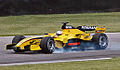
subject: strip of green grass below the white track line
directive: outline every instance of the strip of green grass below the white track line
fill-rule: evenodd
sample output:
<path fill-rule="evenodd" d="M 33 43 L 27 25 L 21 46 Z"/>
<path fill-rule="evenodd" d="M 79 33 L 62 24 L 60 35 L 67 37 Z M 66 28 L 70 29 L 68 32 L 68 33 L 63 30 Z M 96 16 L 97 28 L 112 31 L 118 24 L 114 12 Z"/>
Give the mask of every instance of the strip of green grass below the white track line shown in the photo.
<path fill-rule="evenodd" d="M 98 61 L 4 66 L 0 70 L 120 70 L 120 58 Z"/>

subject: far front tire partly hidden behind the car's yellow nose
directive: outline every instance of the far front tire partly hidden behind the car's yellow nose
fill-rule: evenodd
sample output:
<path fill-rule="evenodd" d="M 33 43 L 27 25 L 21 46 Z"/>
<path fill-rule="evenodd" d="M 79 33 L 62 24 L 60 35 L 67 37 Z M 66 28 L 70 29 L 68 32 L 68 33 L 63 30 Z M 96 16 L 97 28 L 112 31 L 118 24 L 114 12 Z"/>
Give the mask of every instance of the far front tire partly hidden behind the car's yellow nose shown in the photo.
<path fill-rule="evenodd" d="M 13 40 L 12 40 L 12 43 L 15 43 L 15 44 L 17 44 L 17 43 L 19 43 L 22 39 L 24 39 L 25 37 L 23 36 L 23 35 L 17 35 L 17 36 L 15 36 L 14 38 L 13 38 Z M 19 49 L 19 47 L 15 47 L 14 49 L 14 52 L 24 52 L 24 50 L 20 50 Z"/>

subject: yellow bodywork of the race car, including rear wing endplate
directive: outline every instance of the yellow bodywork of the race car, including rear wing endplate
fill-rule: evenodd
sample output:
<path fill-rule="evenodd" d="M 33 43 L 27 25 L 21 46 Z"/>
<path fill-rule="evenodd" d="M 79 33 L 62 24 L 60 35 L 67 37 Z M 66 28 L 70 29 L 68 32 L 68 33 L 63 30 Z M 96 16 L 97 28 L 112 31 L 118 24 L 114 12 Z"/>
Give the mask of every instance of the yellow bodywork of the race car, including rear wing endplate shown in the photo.
<path fill-rule="evenodd" d="M 105 30 L 106 29 L 104 27 L 97 27 L 95 32 L 104 33 Z M 48 35 L 25 38 L 17 43 L 15 46 L 20 47 L 21 50 L 24 50 L 25 46 L 29 46 L 30 51 L 35 51 L 42 50 L 40 48 L 40 42 L 44 37 L 53 37 L 57 48 L 63 48 L 70 39 L 81 39 L 89 41 L 93 38 L 93 35 L 91 35 L 90 33 L 83 32 L 79 29 L 63 29 L 62 32 L 63 34 L 59 36 L 56 35 L 56 33 L 49 33 Z"/>

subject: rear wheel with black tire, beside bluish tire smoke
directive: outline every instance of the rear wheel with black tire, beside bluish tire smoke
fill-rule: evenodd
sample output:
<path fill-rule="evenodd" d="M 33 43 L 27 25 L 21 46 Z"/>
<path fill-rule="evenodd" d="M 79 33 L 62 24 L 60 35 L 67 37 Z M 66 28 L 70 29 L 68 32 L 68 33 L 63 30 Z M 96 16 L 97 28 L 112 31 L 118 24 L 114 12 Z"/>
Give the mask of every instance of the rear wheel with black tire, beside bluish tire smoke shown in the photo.
<path fill-rule="evenodd" d="M 106 34 L 95 34 L 92 40 L 96 50 L 104 50 L 108 46 L 108 37 Z"/>

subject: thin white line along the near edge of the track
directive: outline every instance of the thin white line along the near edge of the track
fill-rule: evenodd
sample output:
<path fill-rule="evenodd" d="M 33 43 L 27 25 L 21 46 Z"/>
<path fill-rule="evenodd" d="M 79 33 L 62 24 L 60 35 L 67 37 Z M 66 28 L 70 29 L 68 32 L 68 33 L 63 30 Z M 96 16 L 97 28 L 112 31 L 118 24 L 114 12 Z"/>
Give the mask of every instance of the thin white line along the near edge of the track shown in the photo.
<path fill-rule="evenodd" d="M 71 60 L 54 60 L 54 61 L 40 61 L 40 62 L 23 62 L 23 63 L 0 64 L 0 66 L 60 63 L 60 62 L 73 62 L 73 61 L 93 61 L 93 60 L 108 60 L 108 59 L 111 59 L 111 58 L 108 57 L 108 58 L 95 58 L 95 59 L 71 59 Z"/>

